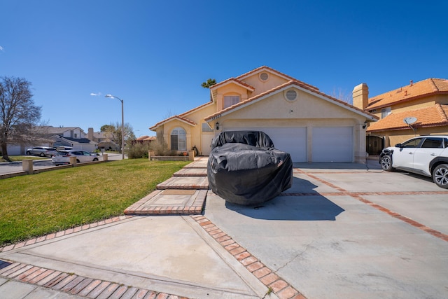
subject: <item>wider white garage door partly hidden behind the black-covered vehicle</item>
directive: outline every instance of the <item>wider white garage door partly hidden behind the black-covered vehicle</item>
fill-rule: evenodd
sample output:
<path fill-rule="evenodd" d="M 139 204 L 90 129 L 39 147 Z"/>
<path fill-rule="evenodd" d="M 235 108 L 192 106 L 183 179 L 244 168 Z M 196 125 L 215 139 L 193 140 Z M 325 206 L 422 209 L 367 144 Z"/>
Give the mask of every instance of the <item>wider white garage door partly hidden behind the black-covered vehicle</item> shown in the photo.
<path fill-rule="evenodd" d="M 269 135 L 275 148 L 291 155 L 293 162 L 307 162 L 306 127 L 228 127 L 225 131 L 262 131 Z"/>

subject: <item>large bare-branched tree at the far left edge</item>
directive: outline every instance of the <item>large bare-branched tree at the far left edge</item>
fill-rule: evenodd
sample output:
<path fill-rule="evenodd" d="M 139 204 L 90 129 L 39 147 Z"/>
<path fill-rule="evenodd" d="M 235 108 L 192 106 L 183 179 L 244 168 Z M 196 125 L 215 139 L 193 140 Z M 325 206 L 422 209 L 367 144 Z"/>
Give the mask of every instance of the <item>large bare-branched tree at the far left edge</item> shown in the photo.
<path fill-rule="evenodd" d="M 41 119 L 41 106 L 36 106 L 31 83 L 25 78 L 1 77 L 0 81 L 0 147 L 3 159 L 8 157 L 8 143 L 30 139 Z"/>

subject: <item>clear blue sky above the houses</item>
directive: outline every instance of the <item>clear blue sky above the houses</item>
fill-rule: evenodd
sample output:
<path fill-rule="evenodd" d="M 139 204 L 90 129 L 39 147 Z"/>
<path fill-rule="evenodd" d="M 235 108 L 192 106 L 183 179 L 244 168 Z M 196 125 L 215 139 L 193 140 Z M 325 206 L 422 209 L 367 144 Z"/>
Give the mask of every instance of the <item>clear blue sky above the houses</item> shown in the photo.
<path fill-rule="evenodd" d="M 1 1 L 0 76 L 26 78 L 48 125 L 121 121 L 137 137 L 266 65 L 349 96 L 448 78 L 448 1 Z M 92 93 L 101 94 L 93 96 Z"/>

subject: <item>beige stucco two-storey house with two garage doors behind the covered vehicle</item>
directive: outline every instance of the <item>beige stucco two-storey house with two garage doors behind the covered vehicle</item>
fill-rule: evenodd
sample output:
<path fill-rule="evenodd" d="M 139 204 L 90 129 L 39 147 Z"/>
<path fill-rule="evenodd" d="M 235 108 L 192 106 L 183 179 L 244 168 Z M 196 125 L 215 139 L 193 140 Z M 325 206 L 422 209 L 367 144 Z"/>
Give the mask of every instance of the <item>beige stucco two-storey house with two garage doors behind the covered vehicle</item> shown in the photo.
<path fill-rule="evenodd" d="M 174 151 L 209 155 L 222 131 L 260 130 L 293 162 L 365 162 L 366 123 L 377 117 L 269 67 L 210 88 L 211 100 L 150 127 Z"/>

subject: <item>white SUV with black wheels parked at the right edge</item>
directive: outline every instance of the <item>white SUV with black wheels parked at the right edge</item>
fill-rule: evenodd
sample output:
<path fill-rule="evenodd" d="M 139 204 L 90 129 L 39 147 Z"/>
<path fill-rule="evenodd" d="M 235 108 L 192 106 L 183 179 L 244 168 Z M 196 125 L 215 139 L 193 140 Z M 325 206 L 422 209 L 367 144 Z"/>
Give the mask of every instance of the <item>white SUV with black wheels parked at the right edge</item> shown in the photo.
<path fill-rule="evenodd" d="M 448 189 L 448 135 L 419 136 L 384 148 L 379 155 L 381 168 L 401 169 L 433 178 Z"/>

